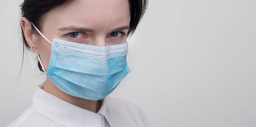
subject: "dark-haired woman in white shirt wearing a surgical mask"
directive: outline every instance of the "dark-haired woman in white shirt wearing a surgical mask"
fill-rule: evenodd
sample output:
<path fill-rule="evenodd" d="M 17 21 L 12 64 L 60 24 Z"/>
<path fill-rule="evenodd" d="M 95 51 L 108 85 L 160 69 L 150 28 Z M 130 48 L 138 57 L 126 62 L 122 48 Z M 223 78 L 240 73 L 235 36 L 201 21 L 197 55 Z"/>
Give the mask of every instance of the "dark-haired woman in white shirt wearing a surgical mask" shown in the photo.
<path fill-rule="evenodd" d="M 107 97 L 130 72 L 127 36 L 146 0 L 24 0 L 24 47 L 46 81 L 8 127 L 149 127 L 144 112 Z"/>

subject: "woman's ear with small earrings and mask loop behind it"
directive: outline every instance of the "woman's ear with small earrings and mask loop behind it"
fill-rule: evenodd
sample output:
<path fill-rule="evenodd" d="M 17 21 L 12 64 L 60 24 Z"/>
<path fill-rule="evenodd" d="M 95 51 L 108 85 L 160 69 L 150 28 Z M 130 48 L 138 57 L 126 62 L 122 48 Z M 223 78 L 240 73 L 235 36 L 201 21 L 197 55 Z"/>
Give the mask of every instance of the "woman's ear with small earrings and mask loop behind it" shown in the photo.
<path fill-rule="evenodd" d="M 27 44 L 32 47 L 36 53 L 38 53 L 38 42 L 37 36 L 32 31 L 31 22 L 26 17 L 21 17 L 20 24 L 22 26 L 22 30 L 27 41 Z"/>

